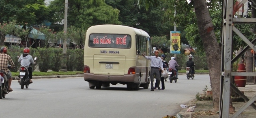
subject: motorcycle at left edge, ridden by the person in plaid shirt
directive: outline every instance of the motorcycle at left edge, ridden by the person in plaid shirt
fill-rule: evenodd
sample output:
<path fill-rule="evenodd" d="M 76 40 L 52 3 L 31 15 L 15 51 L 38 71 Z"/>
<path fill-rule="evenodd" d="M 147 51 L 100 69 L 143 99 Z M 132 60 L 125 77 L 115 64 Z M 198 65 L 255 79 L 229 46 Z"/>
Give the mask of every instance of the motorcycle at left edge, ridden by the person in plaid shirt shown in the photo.
<path fill-rule="evenodd" d="M 11 65 L 8 64 L 8 68 L 11 68 Z M 1 84 L 0 84 L 0 99 L 5 98 L 5 95 L 10 93 L 9 87 L 8 87 L 8 78 L 6 76 L 6 73 L 2 70 L 0 70 L 0 75 L 3 77 L 1 78 Z"/>

